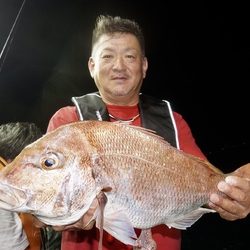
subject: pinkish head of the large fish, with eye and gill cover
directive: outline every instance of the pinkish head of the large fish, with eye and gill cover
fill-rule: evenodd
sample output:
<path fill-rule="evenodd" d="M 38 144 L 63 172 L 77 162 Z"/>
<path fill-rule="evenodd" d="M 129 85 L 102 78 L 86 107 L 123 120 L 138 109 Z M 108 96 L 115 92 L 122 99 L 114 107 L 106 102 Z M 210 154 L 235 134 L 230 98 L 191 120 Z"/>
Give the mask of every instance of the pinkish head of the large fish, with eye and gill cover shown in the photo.
<path fill-rule="evenodd" d="M 0 172 L 0 208 L 47 225 L 77 221 L 96 197 L 88 144 L 74 129 L 48 133 Z"/>

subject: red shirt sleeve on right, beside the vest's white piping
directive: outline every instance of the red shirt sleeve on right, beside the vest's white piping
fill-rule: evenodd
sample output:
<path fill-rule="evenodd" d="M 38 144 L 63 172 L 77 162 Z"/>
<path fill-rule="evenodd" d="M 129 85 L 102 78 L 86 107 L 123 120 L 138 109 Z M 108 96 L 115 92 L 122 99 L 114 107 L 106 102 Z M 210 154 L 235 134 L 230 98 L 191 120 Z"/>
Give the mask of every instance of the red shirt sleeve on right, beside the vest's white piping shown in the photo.
<path fill-rule="evenodd" d="M 186 153 L 192 154 L 202 159 L 206 159 L 206 156 L 202 153 L 201 149 L 196 144 L 191 129 L 187 122 L 180 114 L 176 112 L 174 112 L 174 119 L 178 131 L 180 149 Z"/>

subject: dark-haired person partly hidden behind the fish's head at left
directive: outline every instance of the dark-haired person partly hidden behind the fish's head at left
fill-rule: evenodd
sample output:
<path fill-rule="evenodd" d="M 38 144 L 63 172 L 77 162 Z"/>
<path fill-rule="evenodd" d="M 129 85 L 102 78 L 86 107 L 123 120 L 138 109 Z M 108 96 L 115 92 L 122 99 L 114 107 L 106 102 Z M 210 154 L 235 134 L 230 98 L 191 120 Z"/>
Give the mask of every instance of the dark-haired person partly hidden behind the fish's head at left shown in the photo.
<path fill-rule="evenodd" d="M 28 122 L 12 122 L 0 125 L 0 166 L 3 168 L 21 150 L 42 136 L 41 130 Z M 40 230 L 32 223 L 30 215 L 0 210 L 0 249 L 39 250 Z M 27 238 L 27 236 L 28 238 Z"/>

